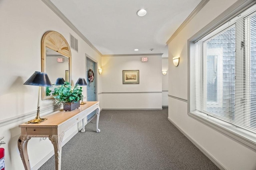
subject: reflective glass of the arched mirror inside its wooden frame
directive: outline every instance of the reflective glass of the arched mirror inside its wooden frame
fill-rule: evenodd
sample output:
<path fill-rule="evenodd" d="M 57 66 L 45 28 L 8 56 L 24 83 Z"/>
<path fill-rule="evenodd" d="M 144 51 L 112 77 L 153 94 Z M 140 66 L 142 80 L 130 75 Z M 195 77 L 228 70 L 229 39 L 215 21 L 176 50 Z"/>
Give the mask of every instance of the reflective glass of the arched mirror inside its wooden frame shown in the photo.
<path fill-rule="evenodd" d="M 46 96 L 54 95 L 54 88 L 61 86 L 62 81 L 69 82 L 69 58 L 46 47 L 46 70 L 52 87 L 46 88 Z"/>

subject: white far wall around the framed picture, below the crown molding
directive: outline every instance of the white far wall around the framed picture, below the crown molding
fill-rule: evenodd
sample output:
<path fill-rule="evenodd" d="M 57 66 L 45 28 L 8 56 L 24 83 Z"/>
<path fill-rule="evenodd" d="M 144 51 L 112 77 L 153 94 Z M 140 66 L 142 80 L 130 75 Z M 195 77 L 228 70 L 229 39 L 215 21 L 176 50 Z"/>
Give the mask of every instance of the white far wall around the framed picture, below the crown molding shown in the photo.
<path fill-rule="evenodd" d="M 140 83 L 122 84 L 122 70 L 140 70 Z M 162 109 L 162 57 L 102 57 L 102 92 L 103 109 Z"/>

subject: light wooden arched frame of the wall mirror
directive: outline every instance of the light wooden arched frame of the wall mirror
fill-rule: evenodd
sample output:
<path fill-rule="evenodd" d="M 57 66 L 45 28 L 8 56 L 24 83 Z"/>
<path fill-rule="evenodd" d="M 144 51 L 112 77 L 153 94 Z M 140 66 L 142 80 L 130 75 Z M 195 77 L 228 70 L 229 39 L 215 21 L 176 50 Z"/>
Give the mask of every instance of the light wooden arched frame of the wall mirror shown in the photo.
<path fill-rule="evenodd" d="M 42 43 L 41 43 L 42 72 L 46 72 L 46 47 L 60 53 L 61 55 L 64 55 L 65 57 L 68 57 L 69 82 L 71 82 L 72 55 L 71 55 L 70 47 L 68 45 L 68 41 L 60 33 L 56 31 L 47 31 L 46 33 L 44 33 L 44 36 L 42 37 Z M 52 98 L 53 98 L 52 95 L 46 96 L 46 88 L 43 87 L 42 100 L 52 99 Z"/>

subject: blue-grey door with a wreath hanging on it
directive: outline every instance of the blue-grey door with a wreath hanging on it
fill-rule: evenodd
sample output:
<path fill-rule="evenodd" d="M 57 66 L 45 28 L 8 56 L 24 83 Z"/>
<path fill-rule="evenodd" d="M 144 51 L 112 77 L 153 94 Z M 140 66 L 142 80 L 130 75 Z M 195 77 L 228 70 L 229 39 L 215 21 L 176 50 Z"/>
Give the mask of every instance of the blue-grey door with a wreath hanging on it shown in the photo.
<path fill-rule="evenodd" d="M 95 62 L 86 57 L 86 74 L 87 74 L 87 101 L 96 101 L 96 72 Z M 89 80 L 90 79 L 90 80 Z M 96 111 L 93 111 L 87 116 L 89 120 Z"/>

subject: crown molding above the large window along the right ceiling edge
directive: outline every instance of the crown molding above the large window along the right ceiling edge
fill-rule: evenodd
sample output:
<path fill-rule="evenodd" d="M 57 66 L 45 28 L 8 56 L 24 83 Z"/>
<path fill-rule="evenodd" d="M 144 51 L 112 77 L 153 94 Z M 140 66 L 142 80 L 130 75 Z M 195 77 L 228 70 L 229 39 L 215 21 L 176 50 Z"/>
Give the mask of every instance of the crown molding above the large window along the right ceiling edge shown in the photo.
<path fill-rule="evenodd" d="M 210 0 L 202 0 L 198 6 L 196 6 L 196 8 L 192 11 L 192 13 L 188 16 L 188 18 L 186 18 L 186 20 L 180 25 L 180 27 L 178 27 L 178 29 L 172 34 L 172 36 L 170 37 L 170 39 L 168 39 L 168 41 L 166 42 L 166 44 L 169 44 L 177 35 L 178 33 L 180 33 L 180 31 L 189 23 L 190 20 L 192 20 L 192 18 L 194 18 L 194 16 L 196 16 L 196 14 L 209 2 Z"/>

